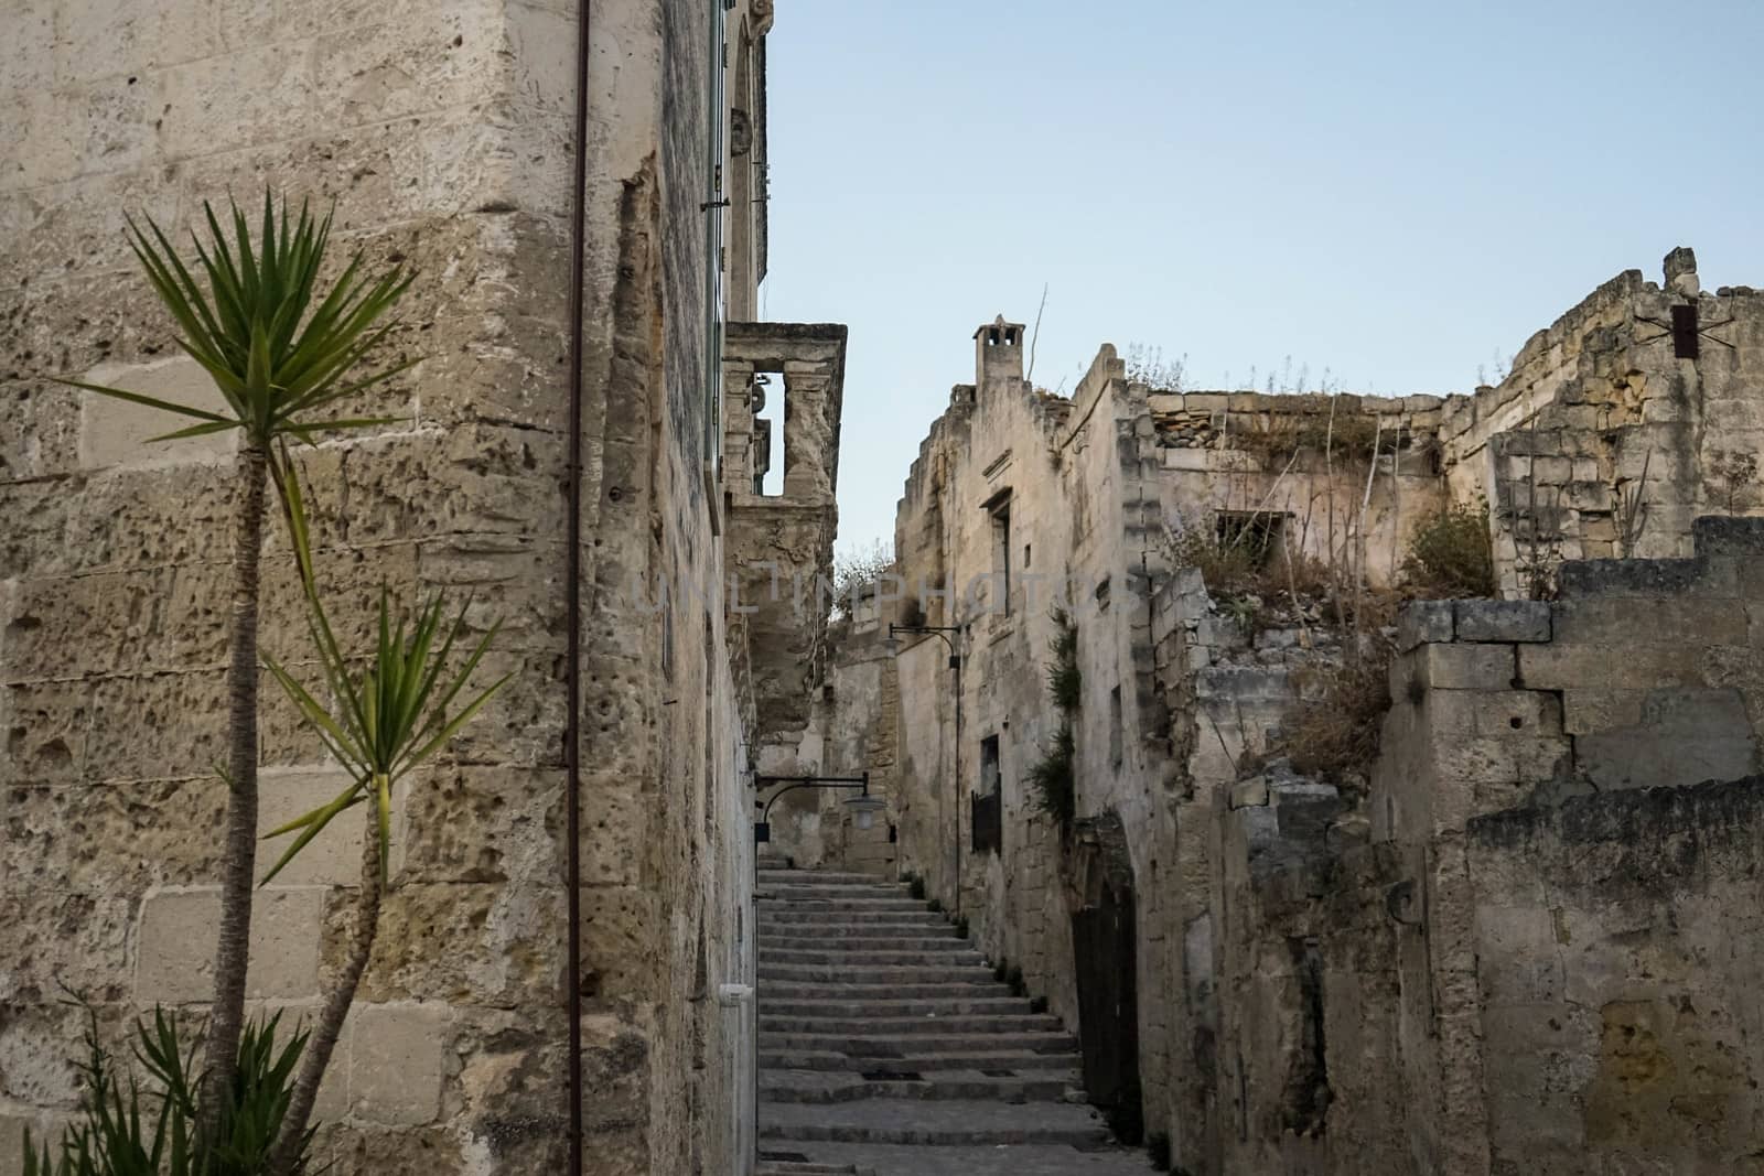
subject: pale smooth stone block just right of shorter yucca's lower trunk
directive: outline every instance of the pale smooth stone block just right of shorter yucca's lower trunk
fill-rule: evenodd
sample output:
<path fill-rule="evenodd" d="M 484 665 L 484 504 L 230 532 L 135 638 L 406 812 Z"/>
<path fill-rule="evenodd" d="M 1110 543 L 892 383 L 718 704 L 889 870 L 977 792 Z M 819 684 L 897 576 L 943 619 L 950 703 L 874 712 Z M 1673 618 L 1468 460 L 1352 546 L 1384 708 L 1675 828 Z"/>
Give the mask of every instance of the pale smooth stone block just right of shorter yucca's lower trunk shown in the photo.
<path fill-rule="evenodd" d="M 356 1120 L 422 1127 L 441 1113 L 446 1005 L 360 1005 L 349 1044 L 349 1109 Z"/>

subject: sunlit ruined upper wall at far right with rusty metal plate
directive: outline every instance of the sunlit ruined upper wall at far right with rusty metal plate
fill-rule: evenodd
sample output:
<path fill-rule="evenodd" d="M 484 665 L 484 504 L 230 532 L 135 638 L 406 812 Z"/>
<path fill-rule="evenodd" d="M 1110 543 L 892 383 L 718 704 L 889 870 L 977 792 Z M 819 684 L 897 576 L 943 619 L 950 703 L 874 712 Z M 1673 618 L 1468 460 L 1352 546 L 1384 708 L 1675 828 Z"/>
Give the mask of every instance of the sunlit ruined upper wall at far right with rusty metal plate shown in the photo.
<path fill-rule="evenodd" d="M 1688 555 L 1693 518 L 1757 513 L 1760 340 L 1764 298 L 1702 291 L 1678 249 L 1663 287 L 1618 275 L 1499 386 L 1450 397 L 1443 467 L 1454 497 L 1492 508 L 1503 592 L 1549 591 L 1563 561 Z"/>

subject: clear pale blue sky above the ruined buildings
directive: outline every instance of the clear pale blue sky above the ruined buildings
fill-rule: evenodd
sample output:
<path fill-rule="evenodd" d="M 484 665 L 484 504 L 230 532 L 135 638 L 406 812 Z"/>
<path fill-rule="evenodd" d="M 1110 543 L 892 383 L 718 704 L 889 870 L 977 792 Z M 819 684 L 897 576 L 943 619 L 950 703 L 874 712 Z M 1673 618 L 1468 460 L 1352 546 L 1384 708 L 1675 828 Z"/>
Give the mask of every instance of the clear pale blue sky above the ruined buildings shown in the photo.
<path fill-rule="evenodd" d="M 1674 245 L 1764 286 L 1759 0 L 783 0 L 767 58 L 766 317 L 850 324 L 841 548 L 1043 286 L 1050 388 L 1138 342 L 1387 395 Z"/>

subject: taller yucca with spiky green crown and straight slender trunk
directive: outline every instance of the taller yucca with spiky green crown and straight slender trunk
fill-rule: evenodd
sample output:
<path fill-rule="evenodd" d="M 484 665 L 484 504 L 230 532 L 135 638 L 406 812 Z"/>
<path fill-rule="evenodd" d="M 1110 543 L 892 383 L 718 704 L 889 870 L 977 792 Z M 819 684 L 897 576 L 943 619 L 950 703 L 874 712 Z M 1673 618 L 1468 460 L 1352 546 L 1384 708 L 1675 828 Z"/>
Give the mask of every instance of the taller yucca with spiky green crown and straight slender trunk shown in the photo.
<path fill-rule="evenodd" d="M 233 548 L 233 607 L 228 668 L 228 813 L 222 848 L 220 927 L 215 945 L 215 989 L 208 1024 L 206 1074 L 228 1090 L 238 1063 L 245 1016 L 245 968 L 250 942 L 252 875 L 258 834 L 258 555 L 263 548 L 265 469 L 284 439 L 312 443 L 321 430 L 358 428 L 386 418 L 325 420 L 339 400 L 381 384 L 411 367 L 406 360 L 367 377 L 355 368 L 385 340 L 393 323 L 386 312 L 411 284 L 393 270 L 363 273 L 362 254 L 319 296 L 319 273 L 330 247 L 332 217 L 316 219 L 305 205 L 289 224 L 288 203 L 277 213 L 263 196 L 256 243 L 245 213 L 231 208 L 231 234 L 203 205 L 208 242 L 192 233 L 196 272 L 146 217 L 129 220 L 134 256 L 182 335 L 178 346 L 213 379 L 224 413 L 146 397 L 123 388 L 62 381 L 106 397 L 145 404 L 189 420 L 153 441 L 199 437 L 238 428 L 238 508 Z M 205 1105 L 219 1107 L 219 1097 Z"/>

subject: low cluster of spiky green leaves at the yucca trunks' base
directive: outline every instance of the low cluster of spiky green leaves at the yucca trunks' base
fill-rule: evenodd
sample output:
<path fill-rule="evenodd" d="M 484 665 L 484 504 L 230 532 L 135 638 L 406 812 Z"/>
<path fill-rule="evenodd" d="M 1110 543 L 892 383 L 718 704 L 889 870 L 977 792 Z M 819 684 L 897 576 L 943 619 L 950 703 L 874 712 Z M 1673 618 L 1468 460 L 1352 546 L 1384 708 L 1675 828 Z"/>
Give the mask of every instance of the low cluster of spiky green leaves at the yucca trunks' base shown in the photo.
<path fill-rule="evenodd" d="M 58 1153 L 25 1134 L 25 1176 L 261 1176 L 307 1044 L 298 1031 L 279 1044 L 279 1024 L 280 1014 L 245 1024 L 229 1097 L 206 1128 L 198 1044 L 183 1044 L 178 1023 L 155 1009 L 152 1026 L 134 1026 L 134 1060 L 152 1079 L 143 1098 L 139 1079 L 118 1074 L 86 1005 L 79 1118 L 62 1132 Z M 307 1171 L 310 1144 L 312 1132 L 300 1132 L 289 1172 Z"/>

